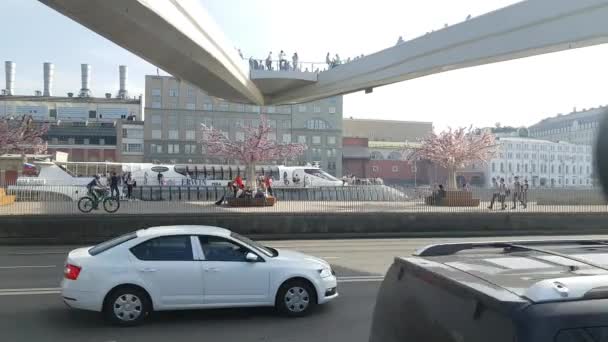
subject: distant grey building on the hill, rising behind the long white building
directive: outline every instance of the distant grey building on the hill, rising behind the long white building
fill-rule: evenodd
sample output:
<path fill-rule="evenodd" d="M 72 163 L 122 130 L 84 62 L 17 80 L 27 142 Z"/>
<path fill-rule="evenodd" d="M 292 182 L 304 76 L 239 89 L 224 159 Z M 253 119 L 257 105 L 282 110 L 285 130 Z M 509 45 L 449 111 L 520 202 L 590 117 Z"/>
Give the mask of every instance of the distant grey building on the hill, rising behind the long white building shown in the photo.
<path fill-rule="evenodd" d="M 570 114 L 559 114 L 530 126 L 530 136 L 549 141 L 567 141 L 573 144 L 595 145 L 601 120 L 608 108 L 602 106 Z"/>

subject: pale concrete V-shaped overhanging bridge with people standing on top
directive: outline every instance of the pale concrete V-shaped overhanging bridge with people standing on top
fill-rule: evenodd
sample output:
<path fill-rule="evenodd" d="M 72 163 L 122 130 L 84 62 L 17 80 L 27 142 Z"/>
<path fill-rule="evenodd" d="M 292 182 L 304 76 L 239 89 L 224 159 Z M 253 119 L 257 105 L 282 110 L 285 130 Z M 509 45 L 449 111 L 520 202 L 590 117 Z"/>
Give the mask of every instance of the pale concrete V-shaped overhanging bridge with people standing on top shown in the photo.
<path fill-rule="evenodd" d="M 608 0 L 526 1 L 315 73 L 313 78 L 301 72 L 249 73 L 193 1 L 40 1 L 213 96 L 256 104 L 313 101 L 608 42 Z"/>

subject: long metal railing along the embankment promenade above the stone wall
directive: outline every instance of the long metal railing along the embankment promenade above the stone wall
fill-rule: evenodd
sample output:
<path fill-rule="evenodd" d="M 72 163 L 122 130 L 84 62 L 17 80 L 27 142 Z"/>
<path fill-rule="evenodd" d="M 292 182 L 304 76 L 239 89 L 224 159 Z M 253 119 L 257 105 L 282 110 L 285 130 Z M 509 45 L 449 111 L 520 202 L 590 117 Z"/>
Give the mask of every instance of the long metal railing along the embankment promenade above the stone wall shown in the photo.
<path fill-rule="evenodd" d="M 438 194 L 428 188 L 384 185 L 273 188 L 276 204 L 266 207 L 231 207 L 222 197 L 233 197 L 224 186 L 137 185 L 120 186 L 121 214 L 158 213 L 607 213 L 600 189 L 532 188 L 525 194 L 494 195 L 490 189 Z M 0 215 L 79 214 L 77 201 L 85 186 L 0 186 Z M 494 199 L 493 199 L 494 198 Z M 493 203 L 492 203 L 493 202 Z M 504 206 L 503 206 L 504 203 Z M 492 209 L 488 207 L 493 204 Z M 503 209 L 504 207 L 504 209 Z M 102 210 L 96 213 L 104 213 Z M 105 214 L 105 213 L 104 213 Z"/>

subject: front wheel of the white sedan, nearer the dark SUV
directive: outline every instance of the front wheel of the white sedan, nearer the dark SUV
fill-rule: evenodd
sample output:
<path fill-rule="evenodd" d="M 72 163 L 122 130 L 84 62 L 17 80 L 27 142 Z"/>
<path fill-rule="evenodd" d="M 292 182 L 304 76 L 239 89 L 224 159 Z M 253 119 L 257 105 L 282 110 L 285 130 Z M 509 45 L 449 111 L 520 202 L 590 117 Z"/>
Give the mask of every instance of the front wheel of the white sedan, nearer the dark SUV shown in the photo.
<path fill-rule="evenodd" d="M 316 304 L 317 295 L 314 287 L 303 280 L 288 281 L 279 288 L 277 293 L 276 307 L 286 316 L 304 316 Z"/>

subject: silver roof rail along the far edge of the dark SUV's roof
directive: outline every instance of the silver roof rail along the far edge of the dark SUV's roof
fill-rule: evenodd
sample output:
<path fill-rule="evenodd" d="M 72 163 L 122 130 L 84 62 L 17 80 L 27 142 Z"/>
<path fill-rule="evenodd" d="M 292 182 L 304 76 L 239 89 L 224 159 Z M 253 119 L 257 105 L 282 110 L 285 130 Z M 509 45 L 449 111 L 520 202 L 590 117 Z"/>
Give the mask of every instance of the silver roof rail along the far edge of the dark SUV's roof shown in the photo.
<path fill-rule="evenodd" d="M 456 243 L 442 243 L 436 245 L 429 245 L 422 247 L 417 250 L 414 255 L 420 257 L 427 256 L 442 256 L 456 254 L 460 251 L 474 248 L 519 248 L 536 250 L 542 252 L 548 252 L 547 250 L 540 248 L 533 248 L 533 246 L 545 246 L 545 245 L 590 245 L 590 246 L 608 246 L 607 240 L 598 239 L 558 239 L 558 240 L 513 240 L 513 241 L 481 241 L 481 242 L 456 242 Z M 557 252 L 551 252 L 557 253 Z M 569 257 L 570 258 L 570 257 Z M 587 262 L 585 262 L 587 263 Z"/>

